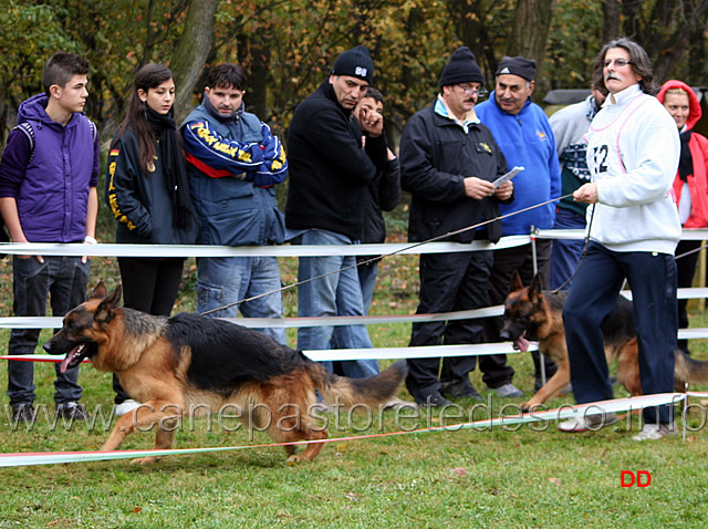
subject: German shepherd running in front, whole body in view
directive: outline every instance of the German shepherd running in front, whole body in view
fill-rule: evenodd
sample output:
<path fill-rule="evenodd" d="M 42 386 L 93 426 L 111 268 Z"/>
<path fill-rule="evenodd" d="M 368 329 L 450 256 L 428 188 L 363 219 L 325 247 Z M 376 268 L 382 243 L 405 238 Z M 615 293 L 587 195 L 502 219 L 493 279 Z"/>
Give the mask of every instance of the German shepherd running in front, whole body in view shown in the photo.
<path fill-rule="evenodd" d="M 243 411 L 241 421 L 275 443 L 325 439 L 327 431 L 310 413 L 315 390 L 330 404 L 376 408 L 396 396 L 406 376 L 400 361 L 371 378 L 340 377 L 258 331 L 196 314 L 149 315 L 118 307 L 121 294 L 121 286 L 108 295 L 100 282 L 44 344 L 50 354 L 66 354 L 62 370 L 90 357 L 143 403 L 117 421 L 102 450 L 119 448 L 128 434 L 154 424 L 155 449 L 169 448 L 183 414 L 216 413 L 225 405 Z M 295 455 L 295 446 L 285 446 L 289 461 L 311 460 L 321 449 L 322 443 L 309 443 Z"/>

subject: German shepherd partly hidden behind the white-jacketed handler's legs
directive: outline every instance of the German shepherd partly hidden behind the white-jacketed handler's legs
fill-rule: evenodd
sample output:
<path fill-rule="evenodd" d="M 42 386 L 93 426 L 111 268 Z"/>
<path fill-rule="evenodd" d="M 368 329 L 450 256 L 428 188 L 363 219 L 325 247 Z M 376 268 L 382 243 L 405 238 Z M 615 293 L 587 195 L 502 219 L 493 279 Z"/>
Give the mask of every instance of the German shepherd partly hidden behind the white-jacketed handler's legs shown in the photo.
<path fill-rule="evenodd" d="M 518 273 L 512 278 L 511 292 L 504 302 L 504 325 L 500 332 L 501 339 L 512 341 L 514 348 L 521 351 L 528 350 L 530 340 L 538 341 L 539 351 L 558 365 L 558 372 L 535 395 L 521 405 L 524 411 L 543 404 L 571 381 L 563 326 L 563 304 L 566 297 L 566 291 L 543 292 L 541 278 L 538 274 L 529 287 L 522 284 Z M 617 381 L 633 396 L 642 395 L 632 301 L 624 295 L 617 298 L 614 311 L 603 324 L 603 333 L 607 362 L 617 361 Z M 679 349 L 676 349 L 674 354 L 676 391 L 683 392 L 687 382 L 708 382 L 708 362 L 693 360 Z"/>

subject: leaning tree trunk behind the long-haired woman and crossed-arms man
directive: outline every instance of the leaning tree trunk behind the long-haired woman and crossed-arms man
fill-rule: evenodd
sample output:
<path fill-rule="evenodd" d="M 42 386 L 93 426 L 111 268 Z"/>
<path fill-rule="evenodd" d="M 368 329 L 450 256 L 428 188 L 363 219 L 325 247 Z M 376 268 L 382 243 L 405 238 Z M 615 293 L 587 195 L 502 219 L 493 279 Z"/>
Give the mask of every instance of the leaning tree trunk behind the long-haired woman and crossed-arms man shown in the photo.
<path fill-rule="evenodd" d="M 191 107 L 191 93 L 206 63 L 214 42 L 214 24 L 219 0 L 191 0 L 170 69 L 175 74 L 177 97 L 175 116 L 177 123 Z"/>

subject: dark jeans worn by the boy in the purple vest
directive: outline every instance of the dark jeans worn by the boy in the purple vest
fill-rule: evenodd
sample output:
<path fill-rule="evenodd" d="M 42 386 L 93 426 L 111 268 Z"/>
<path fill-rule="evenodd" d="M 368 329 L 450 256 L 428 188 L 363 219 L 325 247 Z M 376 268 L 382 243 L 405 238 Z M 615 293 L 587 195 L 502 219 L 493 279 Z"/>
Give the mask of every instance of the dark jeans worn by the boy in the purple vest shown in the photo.
<path fill-rule="evenodd" d="M 12 284 L 14 291 L 13 309 L 17 317 L 46 315 L 46 298 L 50 299 L 52 315 L 63 317 L 86 299 L 86 283 L 91 261 L 81 262 L 81 257 L 48 257 L 39 262 L 34 256 L 12 257 Z M 34 354 L 40 329 L 13 329 L 10 333 L 8 354 Z M 54 364 L 54 402 L 63 404 L 81 398 L 79 366 L 60 371 Z M 34 402 L 33 362 L 8 361 L 8 396 L 10 405 Z"/>

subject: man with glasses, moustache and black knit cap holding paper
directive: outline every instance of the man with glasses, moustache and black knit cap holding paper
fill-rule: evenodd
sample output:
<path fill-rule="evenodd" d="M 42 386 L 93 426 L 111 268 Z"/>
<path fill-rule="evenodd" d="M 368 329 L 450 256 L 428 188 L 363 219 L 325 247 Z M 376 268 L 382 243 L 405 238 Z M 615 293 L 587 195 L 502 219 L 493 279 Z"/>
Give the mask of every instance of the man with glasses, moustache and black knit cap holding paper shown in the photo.
<path fill-rule="evenodd" d="M 400 139 L 402 187 L 410 191 L 408 240 L 423 241 L 499 216 L 499 203 L 510 203 L 513 184 L 494 187 L 507 172 L 507 162 L 491 132 L 475 113 L 485 79 L 475 54 L 459 48 L 442 70 L 440 93 L 433 105 L 414 115 Z M 448 240 L 496 242 L 499 220 Z M 487 281 L 493 256 L 490 250 L 420 256 L 418 314 L 487 307 Z M 479 343 L 482 320 L 414 323 L 410 345 Z M 480 367 L 483 369 L 483 356 Z M 408 360 L 406 385 L 425 406 L 449 404 L 445 398 L 479 398 L 469 381 L 476 356 Z"/>

